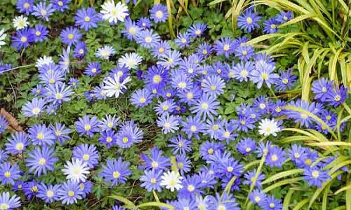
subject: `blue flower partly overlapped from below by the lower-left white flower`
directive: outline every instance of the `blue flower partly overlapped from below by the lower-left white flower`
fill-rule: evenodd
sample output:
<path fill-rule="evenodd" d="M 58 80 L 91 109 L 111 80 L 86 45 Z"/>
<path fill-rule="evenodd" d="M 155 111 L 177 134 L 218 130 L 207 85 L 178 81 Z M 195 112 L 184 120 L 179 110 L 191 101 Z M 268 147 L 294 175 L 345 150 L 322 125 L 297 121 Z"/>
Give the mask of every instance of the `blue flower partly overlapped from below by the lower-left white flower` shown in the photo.
<path fill-rule="evenodd" d="M 73 158 L 83 160 L 91 169 L 99 163 L 99 153 L 93 144 L 79 144 L 79 146 L 75 146 L 73 149 Z"/>

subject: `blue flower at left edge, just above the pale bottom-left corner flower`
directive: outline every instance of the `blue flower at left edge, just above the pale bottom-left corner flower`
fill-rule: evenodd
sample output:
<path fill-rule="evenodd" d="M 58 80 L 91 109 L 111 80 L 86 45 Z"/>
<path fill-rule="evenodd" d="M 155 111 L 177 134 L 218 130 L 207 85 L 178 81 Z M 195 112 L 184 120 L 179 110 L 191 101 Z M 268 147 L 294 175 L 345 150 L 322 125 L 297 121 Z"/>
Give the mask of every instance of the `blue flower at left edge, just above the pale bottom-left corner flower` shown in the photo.
<path fill-rule="evenodd" d="M 20 179 L 20 167 L 17 164 L 11 165 L 10 162 L 4 162 L 0 165 L 0 181 L 2 185 L 6 183 L 15 184 L 15 181 Z"/>

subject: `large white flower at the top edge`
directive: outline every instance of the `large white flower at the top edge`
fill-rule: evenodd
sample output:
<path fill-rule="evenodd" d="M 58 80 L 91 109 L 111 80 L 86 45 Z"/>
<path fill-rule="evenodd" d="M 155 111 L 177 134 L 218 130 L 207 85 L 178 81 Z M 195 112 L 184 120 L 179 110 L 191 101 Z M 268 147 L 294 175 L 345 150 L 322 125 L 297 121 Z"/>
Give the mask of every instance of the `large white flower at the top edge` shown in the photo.
<path fill-rule="evenodd" d="M 124 22 L 128 14 L 128 7 L 125 3 L 118 2 L 114 4 L 114 0 L 106 1 L 102 4 L 102 19 L 109 22 L 117 23 L 118 21 Z"/>

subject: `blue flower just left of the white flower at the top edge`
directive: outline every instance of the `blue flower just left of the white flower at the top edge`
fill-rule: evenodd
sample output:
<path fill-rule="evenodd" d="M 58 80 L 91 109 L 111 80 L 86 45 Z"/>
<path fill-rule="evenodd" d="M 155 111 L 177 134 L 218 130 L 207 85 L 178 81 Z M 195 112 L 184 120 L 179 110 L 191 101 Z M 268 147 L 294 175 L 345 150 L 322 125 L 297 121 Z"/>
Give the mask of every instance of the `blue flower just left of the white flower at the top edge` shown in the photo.
<path fill-rule="evenodd" d="M 88 31 L 88 29 L 98 27 L 100 15 L 95 12 L 95 8 L 82 8 L 80 10 L 77 10 L 77 14 L 74 16 L 74 20 L 74 25 L 79 26 L 85 31 Z"/>

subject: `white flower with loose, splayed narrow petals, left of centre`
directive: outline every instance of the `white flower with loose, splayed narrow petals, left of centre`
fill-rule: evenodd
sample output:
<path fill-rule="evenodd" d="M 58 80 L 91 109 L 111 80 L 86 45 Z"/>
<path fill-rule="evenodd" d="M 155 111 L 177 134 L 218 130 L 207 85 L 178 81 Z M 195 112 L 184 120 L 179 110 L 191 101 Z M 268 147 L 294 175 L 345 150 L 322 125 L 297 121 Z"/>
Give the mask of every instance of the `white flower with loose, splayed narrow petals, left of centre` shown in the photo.
<path fill-rule="evenodd" d="M 121 82 L 119 75 L 117 73 L 114 73 L 114 78 L 109 76 L 104 80 L 104 87 L 102 87 L 102 89 L 104 90 L 107 97 L 114 96 L 118 98 L 119 94 L 123 93 L 123 90 L 127 89 L 126 83 L 129 81 L 131 81 L 131 78 L 128 76 Z"/>

